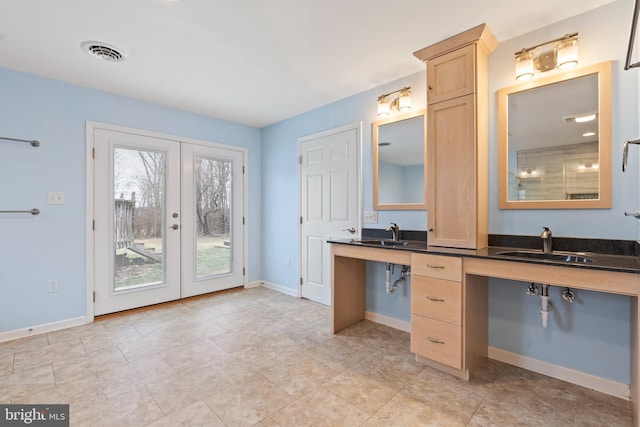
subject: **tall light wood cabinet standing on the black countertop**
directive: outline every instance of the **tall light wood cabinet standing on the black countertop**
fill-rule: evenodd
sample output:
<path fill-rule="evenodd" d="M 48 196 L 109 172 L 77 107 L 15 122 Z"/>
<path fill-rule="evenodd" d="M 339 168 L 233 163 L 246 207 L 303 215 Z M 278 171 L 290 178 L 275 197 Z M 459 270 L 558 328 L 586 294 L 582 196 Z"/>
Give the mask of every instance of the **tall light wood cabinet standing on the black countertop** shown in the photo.
<path fill-rule="evenodd" d="M 482 24 L 414 53 L 427 66 L 429 246 L 487 246 L 487 63 L 496 46 Z"/>

